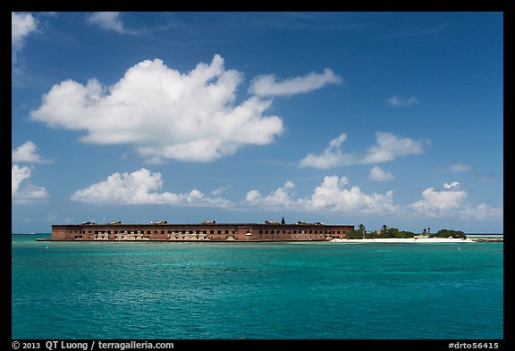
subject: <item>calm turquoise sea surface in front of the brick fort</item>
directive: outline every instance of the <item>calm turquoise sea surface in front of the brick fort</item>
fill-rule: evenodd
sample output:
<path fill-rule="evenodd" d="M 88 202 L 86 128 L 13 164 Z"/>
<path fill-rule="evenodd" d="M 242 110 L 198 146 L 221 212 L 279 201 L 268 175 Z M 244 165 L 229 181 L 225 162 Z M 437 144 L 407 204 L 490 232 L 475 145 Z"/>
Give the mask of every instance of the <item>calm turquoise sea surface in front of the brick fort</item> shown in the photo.
<path fill-rule="evenodd" d="M 503 338 L 502 243 L 36 238 L 12 238 L 13 338 Z"/>

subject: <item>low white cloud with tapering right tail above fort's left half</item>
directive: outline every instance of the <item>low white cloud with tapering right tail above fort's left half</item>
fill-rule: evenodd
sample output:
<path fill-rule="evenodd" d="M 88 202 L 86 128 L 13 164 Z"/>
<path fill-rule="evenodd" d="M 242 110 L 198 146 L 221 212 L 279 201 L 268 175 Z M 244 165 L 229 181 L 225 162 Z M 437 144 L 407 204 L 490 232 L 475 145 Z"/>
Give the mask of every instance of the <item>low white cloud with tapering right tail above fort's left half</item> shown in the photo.
<path fill-rule="evenodd" d="M 70 197 L 96 205 L 186 205 L 186 206 L 230 206 L 231 202 L 217 196 L 206 196 L 198 189 L 187 193 L 159 193 L 163 188 L 161 173 L 150 172 L 145 168 L 131 173 L 115 172 L 106 180 L 92 184 L 88 188 L 75 191 Z"/>

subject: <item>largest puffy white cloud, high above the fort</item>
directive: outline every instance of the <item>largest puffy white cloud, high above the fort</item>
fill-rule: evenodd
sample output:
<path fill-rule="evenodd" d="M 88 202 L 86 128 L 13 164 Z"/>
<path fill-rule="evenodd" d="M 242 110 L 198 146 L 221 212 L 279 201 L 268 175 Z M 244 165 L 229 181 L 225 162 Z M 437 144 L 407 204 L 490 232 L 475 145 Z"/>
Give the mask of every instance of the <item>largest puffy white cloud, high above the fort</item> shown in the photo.
<path fill-rule="evenodd" d="M 241 146 L 270 144 L 283 132 L 281 118 L 265 115 L 271 101 L 250 96 L 235 103 L 241 80 L 218 54 L 188 73 L 146 60 L 108 88 L 97 79 L 56 84 L 31 118 L 85 130 L 85 143 L 132 146 L 148 163 L 210 162 Z"/>

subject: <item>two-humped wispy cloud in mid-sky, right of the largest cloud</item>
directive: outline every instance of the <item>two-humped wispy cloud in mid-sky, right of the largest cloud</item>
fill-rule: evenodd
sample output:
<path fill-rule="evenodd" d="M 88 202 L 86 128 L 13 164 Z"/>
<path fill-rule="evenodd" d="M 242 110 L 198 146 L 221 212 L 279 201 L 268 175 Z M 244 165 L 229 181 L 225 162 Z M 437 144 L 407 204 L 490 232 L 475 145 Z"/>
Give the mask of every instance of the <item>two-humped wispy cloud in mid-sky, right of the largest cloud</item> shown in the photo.
<path fill-rule="evenodd" d="M 384 163 L 405 155 L 418 155 L 426 144 L 411 138 L 400 138 L 393 133 L 377 131 L 376 145 L 370 146 L 363 155 L 343 153 L 342 144 L 347 135 L 342 133 L 329 142 L 329 146 L 320 155 L 308 154 L 300 160 L 300 167 L 326 169 L 347 166 L 350 164 Z"/>

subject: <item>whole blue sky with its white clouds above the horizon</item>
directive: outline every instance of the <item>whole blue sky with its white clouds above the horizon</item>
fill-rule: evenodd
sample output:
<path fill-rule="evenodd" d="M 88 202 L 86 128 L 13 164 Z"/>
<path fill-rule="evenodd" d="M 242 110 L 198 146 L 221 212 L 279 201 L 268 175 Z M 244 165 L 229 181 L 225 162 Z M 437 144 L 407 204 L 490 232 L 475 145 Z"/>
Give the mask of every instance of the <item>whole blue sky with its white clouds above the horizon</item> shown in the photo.
<path fill-rule="evenodd" d="M 502 232 L 502 13 L 12 13 L 12 230 Z"/>

